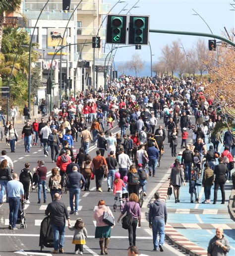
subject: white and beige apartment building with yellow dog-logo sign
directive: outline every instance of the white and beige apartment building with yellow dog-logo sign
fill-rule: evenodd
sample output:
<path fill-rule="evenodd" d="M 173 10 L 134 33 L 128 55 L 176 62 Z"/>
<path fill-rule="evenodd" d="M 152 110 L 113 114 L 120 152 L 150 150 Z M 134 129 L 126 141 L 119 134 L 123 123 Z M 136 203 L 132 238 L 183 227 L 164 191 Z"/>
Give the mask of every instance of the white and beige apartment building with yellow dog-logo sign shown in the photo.
<path fill-rule="evenodd" d="M 21 12 L 28 19 L 26 29 L 33 37 L 33 42 L 37 42 L 39 45 L 36 50 L 41 53 L 41 57 L 37 65 L 42 70 L 44 82 L 48 78 L 52 65 L 54 103 L 58 103 L 60 86 L 64 92 L 67 79 L 71 80 L 71 91 L 74 92 L 75 89 L 75 93 L 92 87 L 93 79 L 95 79 L 98 87 L 104 85 L 103 74 L 97 72 L 93 78 L 92 69 L 94 57 L 98 65 L 104 63 L 105 56 L 102 54 L 102 43 L 101 48 L 95 50 L 94 56 L 91 42 L 92 37 L 97 34 L 101 37 L 101 42 L 105 39 L 105 31 L 101 24 L 104 15 L 110 11 L 110 4 L 103 3 L 102 0 L 82 0 L 79 2 L 79 0 L 71 0 L 70 9 L 63 10 L 62 0 L 50 0 L 38 22 L 37 18 L 46 0 L 23 0 L 22 2 Z M 62 42 L 60 39 L 64 33 L 65 39 Z M 71 45 L 58 51 L 60 45 L 68 44 Z M 54 56 L 56 51 L 58 53 Z M 39 98 L 43 96 L 42 90 Z"/>

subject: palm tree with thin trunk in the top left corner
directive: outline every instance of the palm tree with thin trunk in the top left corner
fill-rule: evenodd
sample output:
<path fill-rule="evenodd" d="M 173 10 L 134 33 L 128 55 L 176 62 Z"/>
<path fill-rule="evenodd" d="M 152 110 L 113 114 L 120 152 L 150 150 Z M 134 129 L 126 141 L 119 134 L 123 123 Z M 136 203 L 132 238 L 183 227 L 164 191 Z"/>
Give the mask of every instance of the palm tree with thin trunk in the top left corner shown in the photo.
<path fill-rule="evenodd" d="M 4 12 L 13 12 L 20 8 L 22 0 L 0 0 L 0 53 L 1 53 L 1 39 L 2 39 L 2 23 Z"/>

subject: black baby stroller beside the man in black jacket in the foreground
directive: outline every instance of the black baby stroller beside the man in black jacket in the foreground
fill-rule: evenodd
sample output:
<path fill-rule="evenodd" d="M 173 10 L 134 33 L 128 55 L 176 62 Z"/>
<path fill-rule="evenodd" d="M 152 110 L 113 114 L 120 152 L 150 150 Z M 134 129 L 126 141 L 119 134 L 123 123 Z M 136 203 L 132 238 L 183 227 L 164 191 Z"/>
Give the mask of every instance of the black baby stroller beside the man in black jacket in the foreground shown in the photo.
<path fill-rule="evenodd" d="M 44 246 L 49 248 L 54 247 L 54 236 L 50 223 L 51 219 L 49 216 L 45 217 L 41 223 L 39 238 L 39 246 L 41 247 L 41 252 Z"/>

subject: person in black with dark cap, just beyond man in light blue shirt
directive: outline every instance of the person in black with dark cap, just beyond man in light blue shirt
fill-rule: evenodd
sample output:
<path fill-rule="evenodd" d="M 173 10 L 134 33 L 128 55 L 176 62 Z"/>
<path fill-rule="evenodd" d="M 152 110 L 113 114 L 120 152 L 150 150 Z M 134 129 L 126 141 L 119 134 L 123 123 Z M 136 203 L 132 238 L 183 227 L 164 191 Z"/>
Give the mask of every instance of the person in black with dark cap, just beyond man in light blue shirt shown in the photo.
<path fill-rule="evenodd" d="M 24 188 L 24 202 L 30 203 L 29 190 L 30 190 L 30 184 L 33 186 L 33 175 L 29 170 L 29 167 L 30 167 L 29 163 L 25 163 L 24 167 L 25 168 L 21 170 L 19 181 L 23 184 L 23 188 Z"/>

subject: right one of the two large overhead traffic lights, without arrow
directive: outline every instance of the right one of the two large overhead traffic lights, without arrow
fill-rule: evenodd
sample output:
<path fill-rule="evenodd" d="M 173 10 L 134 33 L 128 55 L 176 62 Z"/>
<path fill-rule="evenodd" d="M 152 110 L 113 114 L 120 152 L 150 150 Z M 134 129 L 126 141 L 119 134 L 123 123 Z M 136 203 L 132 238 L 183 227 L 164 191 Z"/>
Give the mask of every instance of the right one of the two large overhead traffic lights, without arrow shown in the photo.
<path fill-rule="evenodd" d="M 149 44 L 149 16 L 129 16 L 128 44 Z"/>

